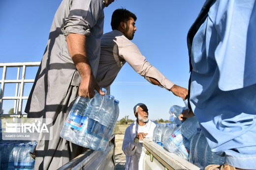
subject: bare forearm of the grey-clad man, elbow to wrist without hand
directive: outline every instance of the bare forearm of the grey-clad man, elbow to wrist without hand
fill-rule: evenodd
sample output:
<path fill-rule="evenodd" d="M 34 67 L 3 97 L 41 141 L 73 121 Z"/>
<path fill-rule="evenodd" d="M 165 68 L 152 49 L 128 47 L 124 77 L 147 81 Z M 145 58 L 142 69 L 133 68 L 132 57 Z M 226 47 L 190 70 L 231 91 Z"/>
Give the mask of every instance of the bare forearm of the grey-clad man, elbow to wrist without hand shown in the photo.
<path fill-rule="evenodd" d="M 86 36 L 70 33 L 66 37 L 67 49 L 82 78 L 92 73 L 86 55 Z"/>

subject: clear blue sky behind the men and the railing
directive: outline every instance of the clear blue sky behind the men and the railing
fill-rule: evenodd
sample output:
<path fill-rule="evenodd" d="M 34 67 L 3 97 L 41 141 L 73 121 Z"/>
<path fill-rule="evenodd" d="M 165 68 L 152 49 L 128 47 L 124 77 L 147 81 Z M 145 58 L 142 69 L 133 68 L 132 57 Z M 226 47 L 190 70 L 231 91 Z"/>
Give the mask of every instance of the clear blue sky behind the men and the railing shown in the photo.
<path fill-rule="evenodd" d="M 115 0 L 104 9 L 104 33 L 111 31 L 113 11 L 123 7 L 137 16 L 137 31 L 132 42 L 164 76 L 187 88 L 189 57 L 187 33 L 205 0 Z M 0 0 L 0 63 L 41 61 L 54 14 L 61 0 Z M 28 69 L 33 79 L 37 69 Z M 16 79 L 17 69 L 8 69 L 6 79 Z M 2 68 L 0 68 L 0 78 Z M 31 83 L 25 85 L 28 96 Z M 4 96 L 13 96 L 15 85 L 5 86 Z M 128 65 L 121 69 L 111 86 L 111 95 L 120 100 L 119 119 L 135 120 L 133 106 L 143 102 L 151 120 L 169 118 L 172 105 L 184 106 L 171 92 L 150 84 Z M 24 102 L 25 106 L 26 100 Z M 13 101 L 4 101 L 4 113 Z M 24 109 L 24 107 L 23 107 Z"/>

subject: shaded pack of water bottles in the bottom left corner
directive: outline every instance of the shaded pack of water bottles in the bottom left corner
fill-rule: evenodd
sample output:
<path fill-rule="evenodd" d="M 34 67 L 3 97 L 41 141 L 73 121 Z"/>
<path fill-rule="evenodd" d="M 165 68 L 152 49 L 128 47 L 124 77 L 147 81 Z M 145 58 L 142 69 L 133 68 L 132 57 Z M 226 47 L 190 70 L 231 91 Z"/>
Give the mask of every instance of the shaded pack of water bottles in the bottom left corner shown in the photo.
<path fill-rule="evenodd" d="M 29 156 L 36 142 L 1 141 L 0 170 L 32 170 L 34 160 Z"/>

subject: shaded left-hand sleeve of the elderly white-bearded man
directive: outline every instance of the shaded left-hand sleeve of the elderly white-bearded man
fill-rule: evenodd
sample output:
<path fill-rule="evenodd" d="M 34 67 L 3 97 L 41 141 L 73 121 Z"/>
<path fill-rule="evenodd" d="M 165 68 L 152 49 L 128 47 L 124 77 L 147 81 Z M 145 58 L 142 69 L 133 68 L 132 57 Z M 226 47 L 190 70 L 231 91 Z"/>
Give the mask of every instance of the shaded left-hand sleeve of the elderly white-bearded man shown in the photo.
<path fill-rule="evenodd" d="M 128 127 L 126 129 L 125 132 L 125 137 L 124 137 L 124 141 L 123 141 L 123 146 L 122 146 L 122 150 L 125 153 L 126 156 L 131 156 L 135 154 L 135 151 L 137 149 L 137 144 L 134 143 L 134 139 L 130 138 L 130 127 Z M 135 146 L 135 148 L 132 150 L 132 148 Z"/>

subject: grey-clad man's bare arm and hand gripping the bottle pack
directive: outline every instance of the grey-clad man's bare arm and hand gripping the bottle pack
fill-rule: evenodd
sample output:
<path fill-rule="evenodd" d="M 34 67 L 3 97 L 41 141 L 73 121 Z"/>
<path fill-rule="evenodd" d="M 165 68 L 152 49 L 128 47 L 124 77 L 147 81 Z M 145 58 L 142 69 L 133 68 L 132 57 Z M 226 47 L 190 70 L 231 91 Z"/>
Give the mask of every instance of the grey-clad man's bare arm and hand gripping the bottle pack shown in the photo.
<path fill-rule="evenodd" d="M 78 95 L 92 98 L 94 97 L 95 89 L 100 95 L 104 95 L 99 89 L 86 55 L 86 36 L 70 33 L 66 36 L 66 43 L 76 69 L 82 77 Z"/>

